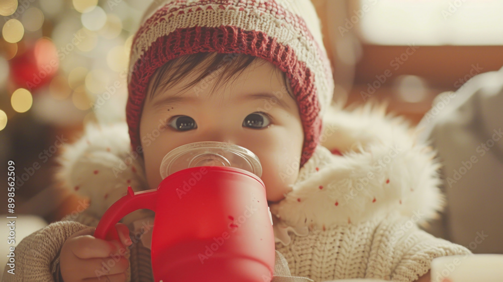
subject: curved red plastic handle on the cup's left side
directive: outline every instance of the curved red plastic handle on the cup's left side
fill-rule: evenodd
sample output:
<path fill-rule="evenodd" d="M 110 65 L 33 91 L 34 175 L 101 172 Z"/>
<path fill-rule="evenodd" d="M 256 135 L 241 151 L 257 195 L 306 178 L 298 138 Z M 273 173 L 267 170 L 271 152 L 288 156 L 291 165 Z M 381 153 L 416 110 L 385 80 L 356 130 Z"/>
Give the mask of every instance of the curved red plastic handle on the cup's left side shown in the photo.
<path fill-rule="evenodd" d="M 131 186 L 127 187 L 127 195 L 112 204 L 101 218 L 94 237 L 106 240 L 119 240 L 117 230 L 112 228 L 127 214 L 140 208 L 148 208 L 155 212 L 157 189 L 135 193 Z"/>

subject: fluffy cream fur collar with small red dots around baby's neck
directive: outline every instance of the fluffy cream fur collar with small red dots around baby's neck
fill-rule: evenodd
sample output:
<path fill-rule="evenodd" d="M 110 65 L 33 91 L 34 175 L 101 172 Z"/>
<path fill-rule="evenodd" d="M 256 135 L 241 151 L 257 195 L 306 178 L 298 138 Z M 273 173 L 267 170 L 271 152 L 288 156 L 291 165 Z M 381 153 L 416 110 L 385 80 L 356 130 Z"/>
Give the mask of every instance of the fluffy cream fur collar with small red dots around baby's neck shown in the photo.
<path fill-rule="evenodd" d="M 300 170 L 293 191 L 271 204 L 271 212 L 281 219 L 278 226 L 324 229 L 397 209 L 420 224 L 436 216 L 444 200 L 435 153 L 415 142 L 402 118 L 384 112 L 371 105 L 327 112 L 323 146 Z M 332 155 L 334 149 L 343 156 Z M 88 212 L 96 217 L 125 195 L 127 186 L 147 189 L 141 160 L 130 152 L 125 123 L 87 125 L 76 143 L 66 145 L 60 162 L 59 178 L 90 198 Z M 127 221 L 141 216 L 136 213 Z"/>

